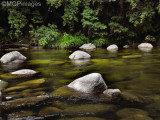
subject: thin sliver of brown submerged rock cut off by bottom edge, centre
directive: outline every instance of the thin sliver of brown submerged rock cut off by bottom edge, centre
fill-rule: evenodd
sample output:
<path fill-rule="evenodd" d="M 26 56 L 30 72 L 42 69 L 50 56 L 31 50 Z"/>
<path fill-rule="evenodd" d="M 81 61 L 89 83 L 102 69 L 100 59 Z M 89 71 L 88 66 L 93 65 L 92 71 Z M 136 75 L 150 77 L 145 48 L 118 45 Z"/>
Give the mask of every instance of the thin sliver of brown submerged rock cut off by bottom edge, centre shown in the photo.
<path fill-rule="evenodd" d="M 106 119 L 98 117 L 76 117 L 76 118 L 63 118 L 58 120 L 106 120 Z"/>

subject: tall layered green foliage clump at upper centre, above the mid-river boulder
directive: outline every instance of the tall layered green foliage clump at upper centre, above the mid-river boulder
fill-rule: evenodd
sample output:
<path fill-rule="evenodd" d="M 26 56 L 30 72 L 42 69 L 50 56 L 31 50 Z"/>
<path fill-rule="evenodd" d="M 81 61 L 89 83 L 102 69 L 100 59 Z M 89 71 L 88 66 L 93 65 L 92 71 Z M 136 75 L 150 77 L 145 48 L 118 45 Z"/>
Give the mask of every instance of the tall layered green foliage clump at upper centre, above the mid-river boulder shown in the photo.
<path fill-rule="evenodd" d="M 89 38 L 103 37 L 106 35 L 105 30 L 107 28 L 106 25 L 99 22 L 99 18 L 97 17 L 97 12 L 89 7 L 86 7 L 82 13 L 82 25 L 85 30 L 87 30 Z M 91 36 L 92 35 L 92 36 Z"/>

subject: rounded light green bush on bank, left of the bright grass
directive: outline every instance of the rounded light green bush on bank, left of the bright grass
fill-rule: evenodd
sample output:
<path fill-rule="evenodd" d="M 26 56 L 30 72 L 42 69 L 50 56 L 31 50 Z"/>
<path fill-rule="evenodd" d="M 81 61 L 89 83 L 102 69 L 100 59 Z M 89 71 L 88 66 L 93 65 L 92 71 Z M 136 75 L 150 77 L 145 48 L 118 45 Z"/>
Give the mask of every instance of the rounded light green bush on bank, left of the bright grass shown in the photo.
<path fill-rule="evenodd" d="M 36 40 L 38 40 L 38 43 L 42 46 L 52 46 L 52 44 L 58 39 L 59 35 L 60 33 L 57 30 L 57 26 L 54 24 L 48 24 L 48 27 L 42 25 L 34 33 Z"/>

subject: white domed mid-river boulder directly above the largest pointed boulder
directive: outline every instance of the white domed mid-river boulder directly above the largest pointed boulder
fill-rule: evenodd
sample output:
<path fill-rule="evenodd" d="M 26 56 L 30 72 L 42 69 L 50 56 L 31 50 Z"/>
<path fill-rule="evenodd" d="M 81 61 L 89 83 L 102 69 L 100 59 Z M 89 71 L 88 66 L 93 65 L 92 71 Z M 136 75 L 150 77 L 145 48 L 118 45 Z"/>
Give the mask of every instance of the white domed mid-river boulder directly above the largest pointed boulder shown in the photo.
<path fill-rule="evenodd" d="M 87 59 L 87 58 L 90 58 L 90 57 L 91 56 L 88 53 L 86 53 L 84 51 L 81 51 L 81 50 L 77 50 L 69 56 L 69 58 L 72 59 L 72 60 Z"/>

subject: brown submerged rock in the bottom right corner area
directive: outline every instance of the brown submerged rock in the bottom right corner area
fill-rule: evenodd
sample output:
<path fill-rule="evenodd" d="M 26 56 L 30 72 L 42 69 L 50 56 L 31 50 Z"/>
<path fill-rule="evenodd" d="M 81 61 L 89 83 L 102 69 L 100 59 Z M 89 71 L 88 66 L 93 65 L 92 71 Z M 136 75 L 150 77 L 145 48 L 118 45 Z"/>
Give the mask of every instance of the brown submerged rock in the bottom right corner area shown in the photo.
<path fill-rule="evenodd" d="M 133 115 L 143 115 L 143 116 L 147 116 L 148 113 L 144 110 L 141 109 L 137 109 L 137 108 L 123 108 L 119 111 L 117 111 L 117 116 L 121 117 L 121 118 L 126 118 L 126 117 L 130 117 Z"/>

